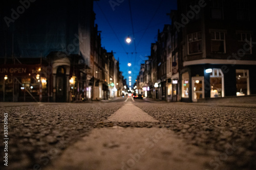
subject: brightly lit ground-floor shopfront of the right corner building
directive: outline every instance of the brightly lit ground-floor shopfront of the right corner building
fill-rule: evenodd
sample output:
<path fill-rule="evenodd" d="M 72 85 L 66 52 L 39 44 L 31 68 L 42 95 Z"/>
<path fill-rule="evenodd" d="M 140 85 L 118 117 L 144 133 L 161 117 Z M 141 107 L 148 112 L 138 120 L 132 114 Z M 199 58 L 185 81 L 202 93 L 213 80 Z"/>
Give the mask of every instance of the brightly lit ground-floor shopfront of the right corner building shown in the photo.
<path fill-rule="evenodd" d="M 246 68 L 246 69 L 244 69 Z M 180 75 L 181 101 L 198 102 L 205 98 L 224 98 L 255 94 L 253 65 L 190 65 Z M 174 87 L 173 87 L 174 88 Z"/>

